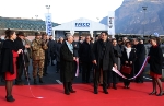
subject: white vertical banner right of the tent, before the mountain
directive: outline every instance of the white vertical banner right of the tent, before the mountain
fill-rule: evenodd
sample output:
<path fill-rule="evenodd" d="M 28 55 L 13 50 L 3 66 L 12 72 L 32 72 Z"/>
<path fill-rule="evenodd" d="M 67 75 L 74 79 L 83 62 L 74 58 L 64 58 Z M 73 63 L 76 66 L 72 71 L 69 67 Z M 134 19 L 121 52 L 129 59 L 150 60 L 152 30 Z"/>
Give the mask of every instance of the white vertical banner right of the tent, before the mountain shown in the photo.
<path fill-rule="evenodd" d="M 108 12 L 107 17 L 107 26 L 108 26 L 108 35 L 112 35 L 112 37 L 115 37 L 115 11 Z"/>

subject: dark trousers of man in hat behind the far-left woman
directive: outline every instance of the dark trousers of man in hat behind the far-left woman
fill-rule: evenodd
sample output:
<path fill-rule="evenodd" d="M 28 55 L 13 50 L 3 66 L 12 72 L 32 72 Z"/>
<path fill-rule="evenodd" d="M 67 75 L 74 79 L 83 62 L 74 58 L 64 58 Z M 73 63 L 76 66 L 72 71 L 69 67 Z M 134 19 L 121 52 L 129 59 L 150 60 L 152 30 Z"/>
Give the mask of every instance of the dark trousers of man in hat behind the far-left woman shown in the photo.
<path fill-rule="evenodd" d="M 17 75 L 16 75 L 16 80 L 15 80 L 16 83 L 22 82 L 23 70 L 24 70 L 24 64 L 21 63 L 20 68 L 17 69 Z"/>

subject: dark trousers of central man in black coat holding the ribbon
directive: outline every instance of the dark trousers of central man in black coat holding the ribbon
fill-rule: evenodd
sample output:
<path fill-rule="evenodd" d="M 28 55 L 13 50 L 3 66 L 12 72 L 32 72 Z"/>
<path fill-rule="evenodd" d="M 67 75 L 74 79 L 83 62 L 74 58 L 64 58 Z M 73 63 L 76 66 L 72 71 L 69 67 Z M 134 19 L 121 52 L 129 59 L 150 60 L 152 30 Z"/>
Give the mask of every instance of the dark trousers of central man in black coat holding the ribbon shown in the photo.
<path fill-rule="evenodd" d="M 94 89 L 97 90 L 98 87 L 98 80 L 99 80 L 101 70 L 95 70 L 94 76 Z M 107 70 L 103 70 L 103 90 L 106 91 L 107 89 Z"/>

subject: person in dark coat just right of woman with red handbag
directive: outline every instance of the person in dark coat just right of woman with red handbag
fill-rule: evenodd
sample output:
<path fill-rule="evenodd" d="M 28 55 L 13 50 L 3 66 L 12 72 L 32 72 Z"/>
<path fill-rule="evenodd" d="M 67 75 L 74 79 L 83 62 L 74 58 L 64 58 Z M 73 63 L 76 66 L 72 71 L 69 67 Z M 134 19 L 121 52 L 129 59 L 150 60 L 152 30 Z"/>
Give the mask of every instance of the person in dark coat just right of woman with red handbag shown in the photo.
<path fill-rule="evenodd" d="M 134 73 L 137 74 L 145 59 L 145 48 L 143 44 L 139 43 L 138 38 L 133 39 L 133 48 L 136 48 Z M 137 83 L 143 83 L 143 72 L 136 79 Z"/>

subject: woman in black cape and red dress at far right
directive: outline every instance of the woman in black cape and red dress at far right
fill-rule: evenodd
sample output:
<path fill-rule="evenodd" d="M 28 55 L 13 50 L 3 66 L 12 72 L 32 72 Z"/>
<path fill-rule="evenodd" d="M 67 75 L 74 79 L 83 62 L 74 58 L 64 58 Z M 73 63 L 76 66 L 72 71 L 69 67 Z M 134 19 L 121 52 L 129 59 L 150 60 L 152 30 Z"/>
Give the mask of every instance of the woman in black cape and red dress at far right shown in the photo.
<path fill-rule="evenodd" d="M 152 76 L 152 83 L 153 83 L 153 92 L 150 93 L 150 95 L 156 94 L 156 84 L 160 87 L 160 93 L 157 96 L 162 96 L 164 94 L 162 89 L 162 82 L 160 78 L 162 78 L 162 62 L 163 62 L 163 54 L 162 49 L 157 45 L 157 39 L 155 37 L 152 37 L 150 39 L 150 43 L 152 47 L 149 51 L 149 63 L 150 63 L 150 75 Z"/>

